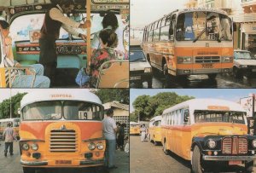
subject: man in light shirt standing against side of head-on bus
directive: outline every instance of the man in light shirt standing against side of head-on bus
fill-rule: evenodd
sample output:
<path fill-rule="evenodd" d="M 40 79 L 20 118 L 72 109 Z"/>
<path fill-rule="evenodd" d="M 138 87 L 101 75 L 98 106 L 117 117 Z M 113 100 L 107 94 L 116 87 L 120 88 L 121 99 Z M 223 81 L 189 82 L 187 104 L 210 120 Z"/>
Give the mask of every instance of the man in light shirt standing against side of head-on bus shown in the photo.
<path fill-rule="evenodd" d="M 117 126 L 113 119 L 113 109 L 107 110 L 107 117 L 102 120 L 103 135 L 107 141 L 107 148 L 105 151 L 106 163 L 108 169 L 116 169 L 114 165 L 115 149 L 116 149 L 116 133 Z"/>

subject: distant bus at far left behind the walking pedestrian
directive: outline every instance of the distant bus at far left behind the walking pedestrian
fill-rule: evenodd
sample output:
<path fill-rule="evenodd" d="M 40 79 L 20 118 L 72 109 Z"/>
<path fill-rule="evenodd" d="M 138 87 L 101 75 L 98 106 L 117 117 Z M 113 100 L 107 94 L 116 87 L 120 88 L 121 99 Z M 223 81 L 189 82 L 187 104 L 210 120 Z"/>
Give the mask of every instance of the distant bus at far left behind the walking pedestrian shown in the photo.
<path fill-rule="evenodd" d="M 3 137 L 3 130 L 7 128 L 7 124 L 12 124 L 13 129 L 15 130 L 15 135 L 17 139 L 20 139 L 19 129 L 20 129 L 20 118 L 6 118 L 0 119 L 0 137 Z"/>

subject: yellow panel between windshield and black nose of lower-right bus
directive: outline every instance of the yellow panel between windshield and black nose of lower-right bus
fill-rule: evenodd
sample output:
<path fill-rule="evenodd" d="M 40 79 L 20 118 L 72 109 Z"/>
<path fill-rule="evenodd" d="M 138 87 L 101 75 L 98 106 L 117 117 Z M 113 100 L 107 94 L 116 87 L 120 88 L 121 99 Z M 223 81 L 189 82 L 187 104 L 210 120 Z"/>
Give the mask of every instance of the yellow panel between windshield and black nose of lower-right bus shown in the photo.
<path fill-rule="evenodd" d="M 247 125 L 245 124 L 196 124 L 192 127 L 193 136 L 235 136 L 246 135 Z"/>

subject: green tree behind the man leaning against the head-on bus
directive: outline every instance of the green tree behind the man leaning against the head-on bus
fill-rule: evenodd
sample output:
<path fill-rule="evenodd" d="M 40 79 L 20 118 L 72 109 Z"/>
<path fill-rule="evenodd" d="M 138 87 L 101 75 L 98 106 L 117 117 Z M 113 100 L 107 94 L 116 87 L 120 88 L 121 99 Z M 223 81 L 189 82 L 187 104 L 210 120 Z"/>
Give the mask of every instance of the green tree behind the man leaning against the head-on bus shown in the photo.
<path fill-rule="evenodd" d="M 123 104 L 130 103 L 129 89 L 97 89 L 94 93 L 100 97 L 102 103 L 109 101 L 119 101 Z"/>

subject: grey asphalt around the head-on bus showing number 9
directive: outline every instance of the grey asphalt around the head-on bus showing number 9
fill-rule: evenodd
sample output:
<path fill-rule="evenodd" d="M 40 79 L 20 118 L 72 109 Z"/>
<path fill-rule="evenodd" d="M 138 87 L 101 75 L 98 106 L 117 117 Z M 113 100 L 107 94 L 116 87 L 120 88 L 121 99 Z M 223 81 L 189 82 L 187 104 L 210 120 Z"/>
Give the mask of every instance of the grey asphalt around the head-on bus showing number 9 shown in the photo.
<path fill-rule="evenodd" d="M 0 141 L 0 173 L 23 173 L 22 166 L 20 164 L 20 149 L 19 142 L 14 142 L 14 155 L 10 156 L 8 153 L 7 157 L 4 157 L 4 142 Z M 97 170 L 93 168 L 88 169 L 50 169 L 50 170 L 39 170 L 37 173 L 129 173 L 129 154 L 124 151 L 116 151 L 115 165 L 118 167 L 113 170 Z"/>

